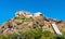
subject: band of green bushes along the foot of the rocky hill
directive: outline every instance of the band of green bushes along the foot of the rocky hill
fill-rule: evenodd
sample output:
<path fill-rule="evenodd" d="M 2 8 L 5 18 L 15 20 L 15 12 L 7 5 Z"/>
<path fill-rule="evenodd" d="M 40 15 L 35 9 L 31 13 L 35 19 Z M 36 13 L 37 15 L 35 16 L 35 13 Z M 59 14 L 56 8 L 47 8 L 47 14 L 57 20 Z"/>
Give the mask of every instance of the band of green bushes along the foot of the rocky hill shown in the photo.
<path fill-rule="evenodd" d="M 40 28 L 35 28 L 18 34 L 11 34 L 8 36 L 0 35 L 0 39 L 65 39 L 64 35 L 55 35 L 48 30 L 42 31 Z"/>

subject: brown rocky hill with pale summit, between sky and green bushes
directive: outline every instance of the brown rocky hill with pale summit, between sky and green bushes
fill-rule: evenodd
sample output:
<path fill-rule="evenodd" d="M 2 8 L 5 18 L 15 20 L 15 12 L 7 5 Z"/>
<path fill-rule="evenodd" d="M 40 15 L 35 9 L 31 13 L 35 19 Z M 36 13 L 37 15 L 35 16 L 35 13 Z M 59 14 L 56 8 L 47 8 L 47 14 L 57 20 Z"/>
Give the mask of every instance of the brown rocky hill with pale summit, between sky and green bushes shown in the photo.
<path fill-rule="evenodd" d="M 63 21 L 47 18 L 40 12 L 30 14 L 30 12 L 18 11 L 15 13 L 15 17 L 9 20 L 0 26 L 0 34 L 9 35 L 34 28 L 42 28 L 42 31 L 49 30 L 55 34 L 52 23 L 55 23 L 62 32 L 65 31 L 65 22 Z"/>

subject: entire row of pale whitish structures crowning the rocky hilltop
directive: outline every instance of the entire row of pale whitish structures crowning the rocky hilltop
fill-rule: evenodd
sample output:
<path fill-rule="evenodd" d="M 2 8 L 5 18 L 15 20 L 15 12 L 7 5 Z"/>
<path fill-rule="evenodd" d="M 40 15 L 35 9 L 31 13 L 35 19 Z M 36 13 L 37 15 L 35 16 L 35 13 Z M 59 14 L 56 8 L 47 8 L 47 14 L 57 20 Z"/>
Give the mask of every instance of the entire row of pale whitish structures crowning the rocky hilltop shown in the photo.
<path fill-rule="evenodd" d="M 26 11 L 18 11 L 15 13 L 15 16 L 20 16 L 20 15 L 23 15 L 25 17 L 37 17 L 37 16 L 42 15 L 42 13 L 37 12 L 37 13 L 31 14 L 30 12 L 26 12 Z"/>

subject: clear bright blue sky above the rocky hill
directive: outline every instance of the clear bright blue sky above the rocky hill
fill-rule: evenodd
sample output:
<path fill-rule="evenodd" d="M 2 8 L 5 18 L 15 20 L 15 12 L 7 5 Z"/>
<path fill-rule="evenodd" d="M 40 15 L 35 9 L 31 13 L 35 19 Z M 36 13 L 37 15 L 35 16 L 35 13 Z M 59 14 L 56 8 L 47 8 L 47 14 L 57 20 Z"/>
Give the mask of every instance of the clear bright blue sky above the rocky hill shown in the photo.
<path fill-rule="evenodd" d="M 65 20 L 65 0 L 0 0 L 0 24 L 14 17 L 15 12 L 21 10 Z"/>

